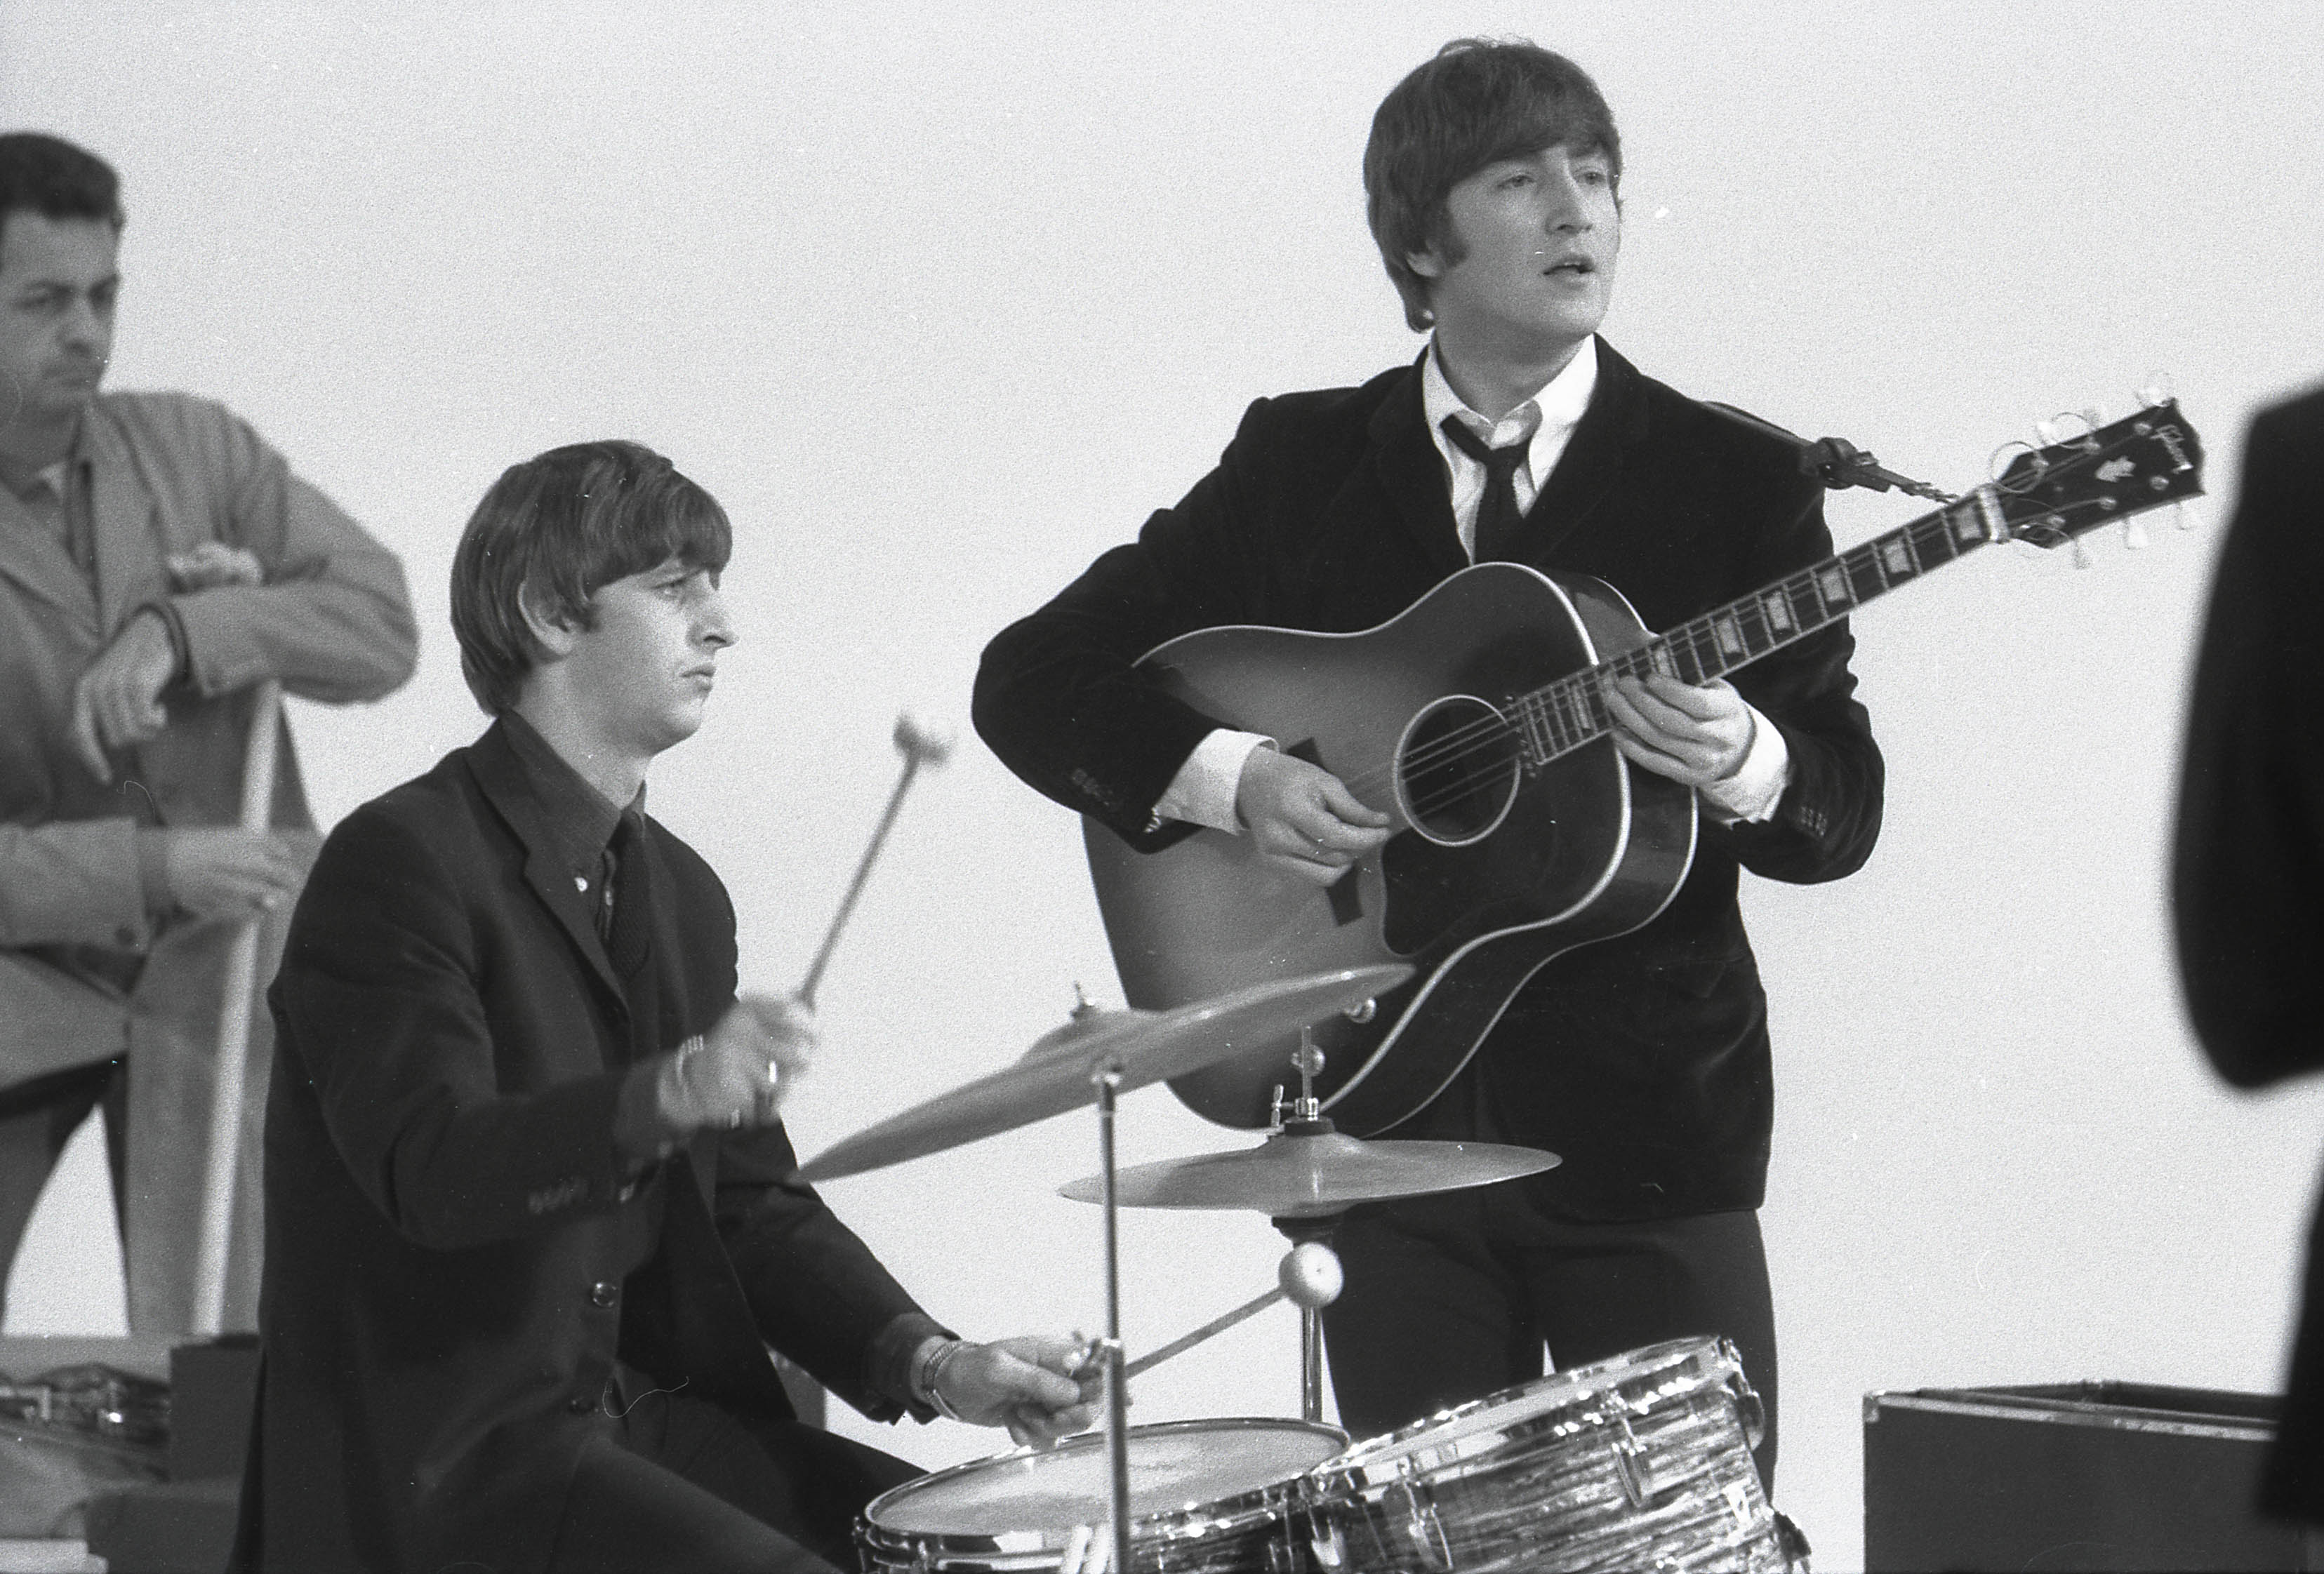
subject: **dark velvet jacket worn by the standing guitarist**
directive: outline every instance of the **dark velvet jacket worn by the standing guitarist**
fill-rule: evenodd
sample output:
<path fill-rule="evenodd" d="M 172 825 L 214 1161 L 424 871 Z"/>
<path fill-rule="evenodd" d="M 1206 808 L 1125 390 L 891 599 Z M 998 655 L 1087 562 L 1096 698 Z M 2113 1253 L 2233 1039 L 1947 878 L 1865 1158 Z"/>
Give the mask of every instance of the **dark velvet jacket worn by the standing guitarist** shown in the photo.
<path fill-rule="evenodd" d="M 1511 556 L 1606 579 L 1669 628 L 1829 551 L 1792 449 L 1601 342 L 1597 393 Z M 1260 400 L 1178 507 L 990 644 L 976 725 L 1041 793 L 1160 846 L 1153 802 L 1218 721 L 1143 681 L 1136 656 L 1220 623 L 1373 628 L 1462 567 L 1418 365 Z M 1841 623 L 1736 677 L 1792 751 L 1776 818 L 1706 823 L 1671 907 L 1536 974 L 1425 1130 L 1564 1153 L 1536 1193 L 1576 1216 L 1757 1207 L 1769 1051 L 1736 870 L 1820 881 L 1871 853 L 1882 772 L 1852 649 Z"/>

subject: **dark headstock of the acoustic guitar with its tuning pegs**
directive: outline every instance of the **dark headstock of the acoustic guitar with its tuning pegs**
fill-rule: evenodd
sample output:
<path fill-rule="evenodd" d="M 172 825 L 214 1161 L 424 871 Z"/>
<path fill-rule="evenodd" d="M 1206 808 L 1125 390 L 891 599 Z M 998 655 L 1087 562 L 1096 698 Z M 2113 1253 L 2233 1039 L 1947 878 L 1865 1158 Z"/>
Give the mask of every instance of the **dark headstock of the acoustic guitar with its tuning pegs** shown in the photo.
<path fill-rule="evenodd" d="M 2010 537 L 2066 542 L 2166 502 L 2203 495 L 2203 439 L 2159 400 L 2136 416 L 2027 449 L 1994 479 Z"/>

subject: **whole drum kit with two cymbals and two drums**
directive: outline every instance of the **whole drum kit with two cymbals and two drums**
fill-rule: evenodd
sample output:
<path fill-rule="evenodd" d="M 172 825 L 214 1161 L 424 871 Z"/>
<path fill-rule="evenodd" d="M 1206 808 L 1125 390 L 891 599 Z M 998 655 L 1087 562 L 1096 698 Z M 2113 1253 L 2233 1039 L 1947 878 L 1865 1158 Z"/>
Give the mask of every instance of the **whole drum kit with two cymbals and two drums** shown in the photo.
<path fill-rule="evenodd" d="M 1485 1569 L 1750 1569 L 1803 1555 L 1759 1490 L 1759 1400 L 1727 1342 L 1680 1339 L 1555 1372 L 1357 1441 L 1322 1423 L 1322 1307 L 1341 1288 L 1332 1225 L 1360 1202 L 1536 1174 L 1557 1156 L 1478 1142 L 1360 1142 L 1313 1095 L 1257 1149 L 1118 1169 L 1120 1093 L 1364 1009 L 1408 976 L 1357 967 L 1250 986 L 1174 1011 L 1088 1000 L 1016 1065 L 839 1142 L 799 1179 L 830 1181 L 1095 1104 L 1102 1172 L 1064 1186 L 1106 1209 L 1106 1428 L 955 1465 L 874 1497 L 867 1574 L 1455 1574 Z M 1122 1358 L 1118 1211 L 1243 1209 L 1292 1242 L 1278 1288 L 1139 1360 Z M 1290 1300 L 1301 1409 L 1287 1418 L 1129 1428 L 1127 1379 Z M 1794 1532 L 1796 1534 L 1796 1532 Z"/>

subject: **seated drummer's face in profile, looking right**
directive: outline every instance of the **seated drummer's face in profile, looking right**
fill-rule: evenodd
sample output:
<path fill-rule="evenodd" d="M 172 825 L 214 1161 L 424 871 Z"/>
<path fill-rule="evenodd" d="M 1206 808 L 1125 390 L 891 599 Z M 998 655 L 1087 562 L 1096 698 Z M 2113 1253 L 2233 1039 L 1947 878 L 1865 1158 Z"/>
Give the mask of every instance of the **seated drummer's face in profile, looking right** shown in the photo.
<path fill-rule="evenodd" d="M 734 644 L 718 574 L 681 558 L 590 595 L 593 628 L 572 632 L 569 679 L 616 749 L 655 756 L 695 735 Z"/>

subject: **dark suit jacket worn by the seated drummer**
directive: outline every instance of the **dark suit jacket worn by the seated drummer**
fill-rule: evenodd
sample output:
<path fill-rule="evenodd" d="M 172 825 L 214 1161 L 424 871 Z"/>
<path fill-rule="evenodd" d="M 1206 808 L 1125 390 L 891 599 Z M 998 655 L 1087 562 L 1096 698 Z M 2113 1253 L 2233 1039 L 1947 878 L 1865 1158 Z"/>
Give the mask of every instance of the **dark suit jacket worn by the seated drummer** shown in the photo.
<path fill-rule="evenodd" d="M 734 1000 L 734 909 L 653 821 L 646 860 L 651 1046 L 669 1049 Z M 781 1128 L 627 1172 L 625 995 L 502 728 L 330 835 L 270 1000 L 246 1562 L 541 1567 L 616 1353 L 788 1416 L 774 1344 L 895 1414 L 867 1365 L 916 1307 L 811 1190 L 781 1186 Z"/>

